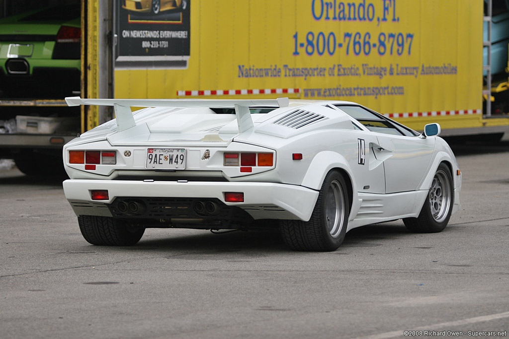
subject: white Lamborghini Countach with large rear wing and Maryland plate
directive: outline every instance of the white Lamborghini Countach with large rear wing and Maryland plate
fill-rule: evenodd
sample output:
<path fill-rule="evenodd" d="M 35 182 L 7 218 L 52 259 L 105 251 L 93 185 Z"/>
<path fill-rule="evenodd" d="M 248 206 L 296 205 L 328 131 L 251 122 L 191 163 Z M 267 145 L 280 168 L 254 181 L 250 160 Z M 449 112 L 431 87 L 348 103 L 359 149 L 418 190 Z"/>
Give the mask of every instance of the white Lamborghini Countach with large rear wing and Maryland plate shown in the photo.
<path fill-rule="evenodd" d="M 438 124 L 419 134 L 344 101 L 66 101 L 115 108 L 63 151 L 65 196 L 95 245 L 133 245 L 146 228 L 267 226 L 293 250 L 333 251 L 367 224 L 440 232 L 460 207 Z"/>

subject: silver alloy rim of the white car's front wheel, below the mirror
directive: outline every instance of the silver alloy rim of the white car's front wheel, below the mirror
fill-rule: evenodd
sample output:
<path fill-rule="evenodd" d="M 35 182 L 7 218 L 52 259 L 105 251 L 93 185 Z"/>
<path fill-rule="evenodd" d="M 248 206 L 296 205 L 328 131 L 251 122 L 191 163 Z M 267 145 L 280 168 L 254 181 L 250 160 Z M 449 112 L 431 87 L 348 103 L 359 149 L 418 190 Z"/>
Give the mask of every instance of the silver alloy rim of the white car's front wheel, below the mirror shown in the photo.
<path fill-rule="evenodd" d="M 443 170 L 435 173 L 428 197 L 433 219 L 437 223 L 443 222 L 447 218 L 451 204 L 450 181 Z"/>

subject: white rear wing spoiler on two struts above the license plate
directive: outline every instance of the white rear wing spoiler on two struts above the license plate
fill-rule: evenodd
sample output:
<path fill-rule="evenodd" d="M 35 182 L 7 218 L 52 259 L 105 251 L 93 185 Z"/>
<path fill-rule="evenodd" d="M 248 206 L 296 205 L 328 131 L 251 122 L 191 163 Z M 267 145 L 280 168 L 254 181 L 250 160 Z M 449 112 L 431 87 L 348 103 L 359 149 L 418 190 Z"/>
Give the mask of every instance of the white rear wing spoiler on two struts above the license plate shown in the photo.
<path fill-rule="evenodd" d="M 68 106 L 99 105 L 113 106 L 117 118 L 119 132 L 136 126 L 131 107 L 209 107 L 226 108 L 234 107 L 237 117 L 239 132 L 253 127 L 253 120 L 249 112 L 250 106 L 287 107 L 290 104 L 288 98 L 257 99 L 257 100 L 204 100 L 204 99 L 81 99 L 80 97 L 65 98 Z"/>

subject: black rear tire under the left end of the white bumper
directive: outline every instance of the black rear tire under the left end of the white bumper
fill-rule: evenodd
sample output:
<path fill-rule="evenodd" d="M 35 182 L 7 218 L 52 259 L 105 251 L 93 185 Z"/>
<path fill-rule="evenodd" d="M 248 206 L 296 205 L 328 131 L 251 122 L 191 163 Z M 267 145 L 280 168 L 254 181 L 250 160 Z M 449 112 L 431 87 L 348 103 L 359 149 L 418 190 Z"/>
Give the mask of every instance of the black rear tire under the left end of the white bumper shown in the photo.
<path fill-rule="evenodd" d="M 142 238 L 145 228 L 132 228 L 126 222 L 96 215 L 80 215 L 83 238 L 93 245 L 131 246 Z"/>

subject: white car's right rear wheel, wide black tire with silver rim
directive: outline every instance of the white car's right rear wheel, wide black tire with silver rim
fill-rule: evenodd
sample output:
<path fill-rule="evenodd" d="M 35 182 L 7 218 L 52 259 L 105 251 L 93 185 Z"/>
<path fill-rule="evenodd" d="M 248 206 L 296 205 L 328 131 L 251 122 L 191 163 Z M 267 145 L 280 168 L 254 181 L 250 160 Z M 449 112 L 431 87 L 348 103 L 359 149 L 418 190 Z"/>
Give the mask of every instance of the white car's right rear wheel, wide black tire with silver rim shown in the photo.
<path fill-rule="evenodd" d="M 282 238 L 295 251 L 335 251 L 345 239 L 350 203 L 343 175 L 330 171 L 309 221 L 281 221 Z M 334 216 L 332 217 L 332 214 Z"/>

